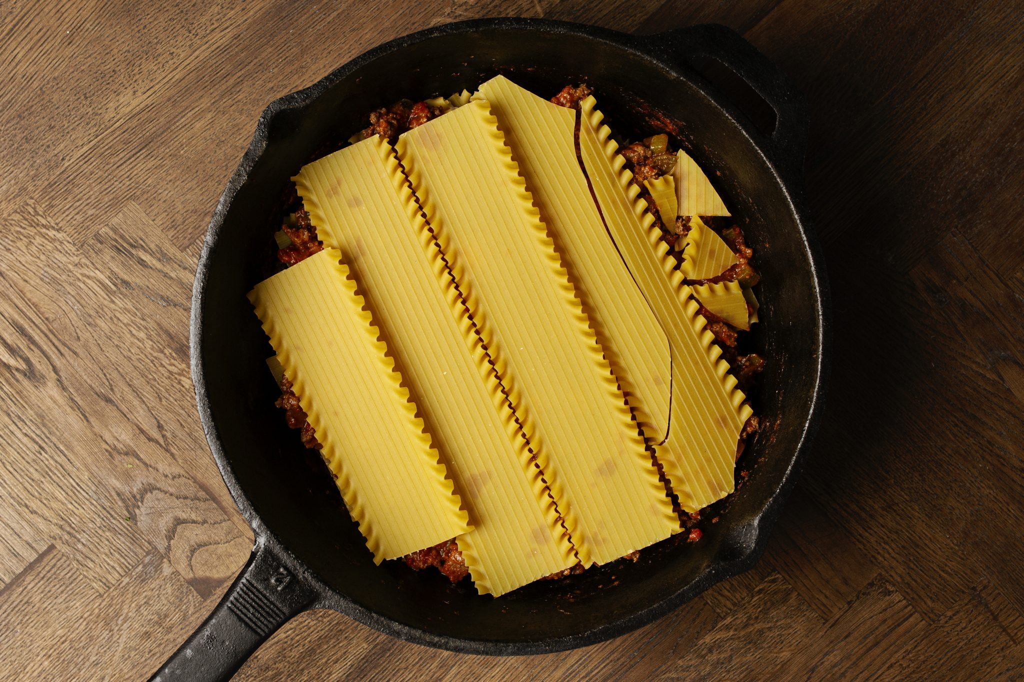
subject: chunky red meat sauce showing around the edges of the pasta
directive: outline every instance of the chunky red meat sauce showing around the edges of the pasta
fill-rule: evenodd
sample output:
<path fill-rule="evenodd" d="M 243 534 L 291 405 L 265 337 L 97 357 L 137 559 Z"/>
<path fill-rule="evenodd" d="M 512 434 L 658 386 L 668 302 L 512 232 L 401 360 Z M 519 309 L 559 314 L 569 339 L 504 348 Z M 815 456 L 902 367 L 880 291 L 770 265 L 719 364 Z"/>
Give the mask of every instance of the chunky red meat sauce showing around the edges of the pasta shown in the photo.
<path fill-rule="evenodd" d="M 579 108 L 580 102 L 590 94 L 591 89 L 585 84 L 579 86 L 567 85 L 552 97 L 551 101 L 560 106 Z M 412 100 L 403 99 L 390 106 L 372 111 L 368 117 L 370 125 L 353 136 L 353 139 L 364 140 L 373 135 L 380 135 L 394 142 L 407 130 L 422 126 L 428 121 L 441 116 L 443 112 L 440 107 L 430 106 L 426 102 L 413 102 Z M 654 216 L 662 228 L 663 239 L 669 245 L 674 245 L 679 239 L 685 238 L 686 233 L 689 231 L 690 218 L 687 216 L 679 217 L 671 226 L 667 226 L 658 214 L 654 202 L 650 200 L 650 196 L 644 186 L 645 181 L 671 173 L 675 166 L 676 155 L 668 146 L 667 136 L 655 135 L 640 142 L 633 142 L 624 147 L 622 153 L 627 161 L 626 168 L 633 173 L 633 182 L 640 188 L 641 193 L 645 195 L 648 211 Z M 302 208 L 294 185 L 289 188 L 289 195 L 286 196 L 284 203 L 286 207 L 286 216 L 291 216 L 294 213 L 294 224 L 286 221 L 282 225 L 281 229 L 288 236 L 290 243 L 281 246 L 278 249 L 276 256 L 278 260 L 285 267 L 291 267 L 322 251 L 324 244 L 317 239 L 316 228 L 310 222 L 309 214 Z M 754 252 L 743 241 L 743 234 L 740 228 L 736 225 L 726 226 L 719 219 L 706 219 L 706 224 L 721 234 L 729 247 L 736 253 L 739 263 L 718 277 L 688 283 L 702 284 L 708 282 L 738 281 L 750 286 L 756 284 L 760 277 L 751 265 Z M 674 249 L 670 249 L 670 253 L 678 254 Z M 743 390 L 749 389 L 754 377 L 764 368 L 764 359 L 756 354 L 739 355 L 736 350 L 739 330 L 703 306 L 700 307 L 700 314 L 707 318 L 708 328 L 715 335 L 715 343 L 722 348 L 722 356 L 729 361 L 731 367 L 729 371 L 736 376 L 738 385 Z M 287 376 L 282 378 L 281 390 L 282 395 L 275 405 L 285 410 L 285 419 L 288 425 L 291 428 L 299 429 L 302 443 L 307 448 L 322 449 L 324 446 L 316 440 L 313 427 L 309 423 L 306 413 L 299 405 L 298 396 L 293 391 L 292 381 Z M 736 453 L 737 458 L 743 451 L 745 439 L 754 434 L 758 429 L 758 426 L 757 416 L 752 416 L 743 425 Z M 665 481 L 665 473 L 662 470 L 660 464 L 656 460 L 654 464 L 663 481 Z M 668 482 L 666 481 L 665 483 L 668 486 Z M 669 487 L 669 491 L 671 495 L 671 486 Z M 684 537 L 687 542 L 699 541 L 702 537 L 702 532 L 699 528 L 696 528 L 696 525 L 700 521 L 700 512 L 686 513 L 682 511 L 675 500 L 675 496 L 672 495 L 672 497 L 674 508 L 679 513 L 685 529 L 683 534 L 676 536 L 676 541 L 678 542 Z M 717 516 L 712 519 L 712 521 L 717 520 Z M 636 550 L 630 552 L 620 560 L 637 561 L 639 558 L 640 551 Z M 402 557 L 402 560 L 414 571 L 422 571 L 431 566 L 436 567 L 452 583 L 458 583 L 469 575 L 465 558 L 459 549 L 459 543 L 455 539 L 407 554 Z M 584 566 L 577 563 L 568 569 L 546 576 L 541 580 L 557 580 L 581 574 L 584 571 Z"/>

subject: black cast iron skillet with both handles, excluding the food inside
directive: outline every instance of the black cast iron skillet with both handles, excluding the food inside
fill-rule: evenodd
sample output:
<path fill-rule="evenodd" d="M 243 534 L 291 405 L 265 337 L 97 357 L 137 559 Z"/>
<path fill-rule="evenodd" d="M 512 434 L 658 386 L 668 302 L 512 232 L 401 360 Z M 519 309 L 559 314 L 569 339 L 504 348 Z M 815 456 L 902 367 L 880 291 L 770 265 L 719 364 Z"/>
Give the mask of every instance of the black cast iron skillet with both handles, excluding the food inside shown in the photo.
<path fill-rule="evenodd" d="M 725 65 L 775 118 L 763 133 L 694 71 Z M 766 423 L 741 460 L 749 480 L 695 545 L 672 540 L 501 598 L 400 562 L 374 565 L 337 490 L 273 407 L 270 347 L 246 292 L 265 276 L 279 197 L 325 142 L 401 97 L 474 89 L 502 72 L 550 96 L 586 80 L 622 135 L 676 131 L 744 220 L 763 274 L 754 342 L 767 358 Z M 707 69 L 705 71 L 707 73 Z M 193 380 L 210 449 L 256 542 L 223 600 L 154 679 L 226 679 L 296 613 L 334 608 L 403 640 L 471 653 L 541 653 L 592 644 L 664 616 L 750 569 L 793 486 L 820 413 L 828 305 L 801 202 L 802 95 L 732 31 L 700 26 L 629 36 L 519 18 L 436 27 L 362 54 L 271 103 L 220 198 L 196 274 Z M 303 465 L 303 462 L 308 465 Z"/>

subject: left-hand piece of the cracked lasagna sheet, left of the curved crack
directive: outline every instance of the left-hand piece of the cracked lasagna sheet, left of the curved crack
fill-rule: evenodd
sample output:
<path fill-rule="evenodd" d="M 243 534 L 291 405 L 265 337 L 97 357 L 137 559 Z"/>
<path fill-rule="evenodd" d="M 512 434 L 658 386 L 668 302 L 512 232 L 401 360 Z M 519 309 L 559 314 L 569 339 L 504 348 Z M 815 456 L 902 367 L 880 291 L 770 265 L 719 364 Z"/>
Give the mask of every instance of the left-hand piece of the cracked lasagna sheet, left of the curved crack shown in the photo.
<path fill-rule="evenodd" d="M 498 119 L 637 421 L 660 443 L 669 431 L 669 339 L 604 229 L 587 187 L 575 153 L 575 111 L 504 76 L 481 85 L 480 95 Z"/>

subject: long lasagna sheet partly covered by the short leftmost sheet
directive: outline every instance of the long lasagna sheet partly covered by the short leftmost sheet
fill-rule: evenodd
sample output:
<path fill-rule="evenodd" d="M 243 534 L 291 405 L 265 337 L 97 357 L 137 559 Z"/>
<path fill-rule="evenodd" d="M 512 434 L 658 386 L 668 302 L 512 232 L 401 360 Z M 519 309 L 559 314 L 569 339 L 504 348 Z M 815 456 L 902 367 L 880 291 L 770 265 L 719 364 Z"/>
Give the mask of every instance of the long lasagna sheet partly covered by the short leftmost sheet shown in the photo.
<path fill-rule="evenodd" d="M 341 251 L 359 282 L 469 511 L 473 530 L 458 540 L 477 590 L 497 596 L 572 565 L 554 504 L 391 146 L 371 137 L 303 167 L 295 182 L 317 236 Z"/>

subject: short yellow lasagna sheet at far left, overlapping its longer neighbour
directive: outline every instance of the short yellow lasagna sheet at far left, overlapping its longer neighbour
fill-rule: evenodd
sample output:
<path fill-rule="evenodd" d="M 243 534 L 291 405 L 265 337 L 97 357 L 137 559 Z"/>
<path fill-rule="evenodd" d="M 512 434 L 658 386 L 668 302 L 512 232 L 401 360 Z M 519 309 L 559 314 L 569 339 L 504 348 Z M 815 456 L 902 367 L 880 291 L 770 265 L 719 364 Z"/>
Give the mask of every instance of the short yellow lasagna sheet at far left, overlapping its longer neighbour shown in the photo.
<path fill-rule="evenodd" d="M 249 300 L 380 563 L 469 525 L 340 259 L 322 251 L 257 284 Z"/>

